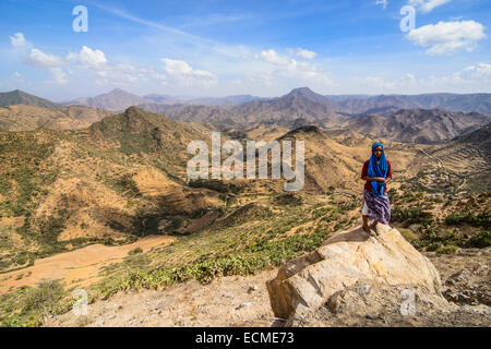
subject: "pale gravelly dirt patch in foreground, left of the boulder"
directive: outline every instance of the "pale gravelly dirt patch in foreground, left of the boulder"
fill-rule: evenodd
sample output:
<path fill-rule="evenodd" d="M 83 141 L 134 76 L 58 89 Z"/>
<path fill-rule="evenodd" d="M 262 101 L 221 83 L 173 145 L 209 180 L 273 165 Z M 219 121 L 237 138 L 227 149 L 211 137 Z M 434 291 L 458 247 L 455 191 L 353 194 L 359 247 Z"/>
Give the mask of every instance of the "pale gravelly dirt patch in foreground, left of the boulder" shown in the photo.
<path fill-rule="evenodd" d="M 188 281 L 164 291 L 118 293 L 109 301 L 88 305 L 88 315 L 73 312 L 56 316 L 45 326 L 172 327 L 172 326 L 272 326 L 275 324 L 266 281 L 268 269 L 255 276 L 227 276 L 209 285 Z"/>

